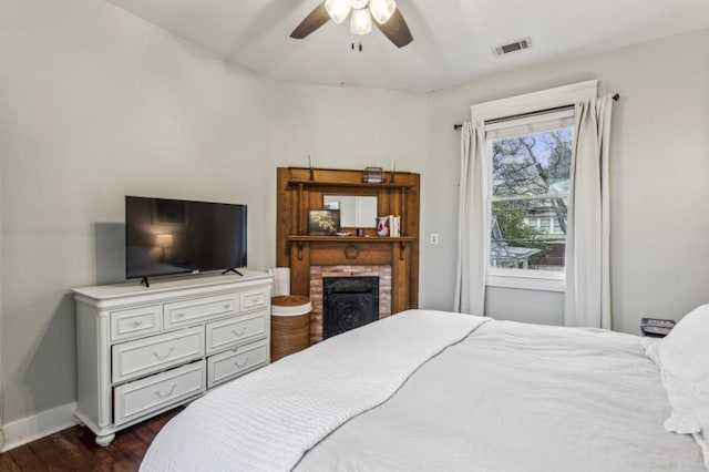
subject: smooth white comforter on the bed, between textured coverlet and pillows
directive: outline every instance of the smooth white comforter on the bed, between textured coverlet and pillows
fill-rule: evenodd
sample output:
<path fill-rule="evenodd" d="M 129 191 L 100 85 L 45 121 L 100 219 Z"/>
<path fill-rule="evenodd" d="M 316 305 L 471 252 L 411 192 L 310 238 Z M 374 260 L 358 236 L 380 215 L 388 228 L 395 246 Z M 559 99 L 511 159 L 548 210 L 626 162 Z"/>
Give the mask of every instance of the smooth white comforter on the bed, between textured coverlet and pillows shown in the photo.
<path fill-rule="evenodd" d="M 702 471 L 637 336 L 493 321 L 297 471 Z"/>

